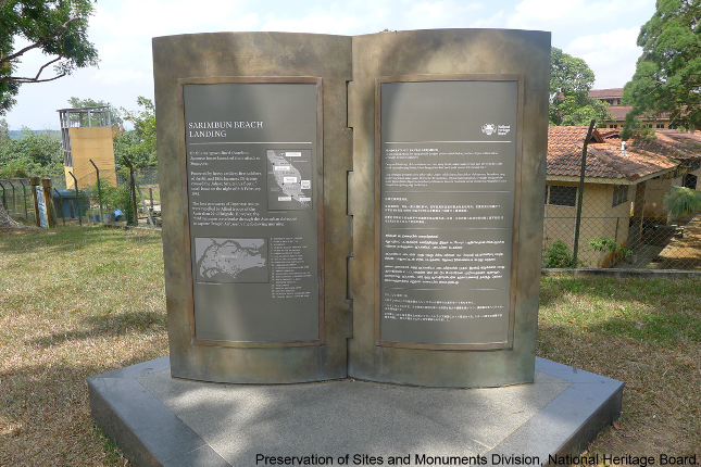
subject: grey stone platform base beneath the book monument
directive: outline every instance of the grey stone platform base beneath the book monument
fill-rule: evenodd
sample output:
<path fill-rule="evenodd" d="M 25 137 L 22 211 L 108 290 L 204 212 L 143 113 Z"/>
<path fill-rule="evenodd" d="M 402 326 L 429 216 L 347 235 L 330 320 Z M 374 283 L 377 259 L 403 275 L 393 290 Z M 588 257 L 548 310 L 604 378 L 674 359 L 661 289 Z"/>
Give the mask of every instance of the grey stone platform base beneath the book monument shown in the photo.
<path fill-rule="evenodd" d="M 198 382 L 172 378 L 167 356 L 88 388 L 97 425 L 138 467 L 547 465 L 586 447 L 623 395 L 619 381 L 542 358 L 535 383 L 492 389 Z"/>

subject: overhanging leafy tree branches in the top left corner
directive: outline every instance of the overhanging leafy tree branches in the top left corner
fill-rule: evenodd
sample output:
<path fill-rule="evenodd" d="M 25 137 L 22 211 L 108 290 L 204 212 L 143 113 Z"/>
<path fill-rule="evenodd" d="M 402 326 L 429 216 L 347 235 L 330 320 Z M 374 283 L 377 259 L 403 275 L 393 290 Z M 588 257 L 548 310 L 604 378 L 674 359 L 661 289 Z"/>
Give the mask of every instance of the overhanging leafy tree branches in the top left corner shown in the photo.
<path fill-rule="evenodd" d="M 87 38 L 91 14 L 90 0 L 0 0 L 0 115 L 16 103 L 21 85 L 51 81 L 97 65 L 98 52 Z M 18 39 L 28 45 L 15 50 Z M 33 50 L 47 55 L 47 62 L 34 76 L 16 76 L 17 64 Z M 52 76 L 46 76 L 50 66 Z"/>

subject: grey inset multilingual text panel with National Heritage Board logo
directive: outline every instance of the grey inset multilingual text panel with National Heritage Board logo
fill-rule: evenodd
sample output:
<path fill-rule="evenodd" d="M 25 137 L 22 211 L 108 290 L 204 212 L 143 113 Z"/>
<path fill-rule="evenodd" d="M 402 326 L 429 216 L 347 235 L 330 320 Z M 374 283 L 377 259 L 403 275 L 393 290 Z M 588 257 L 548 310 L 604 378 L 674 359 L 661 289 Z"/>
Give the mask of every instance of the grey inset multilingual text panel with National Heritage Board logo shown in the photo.
<path fill-rule="evenodd" d="M 378 80 L 380 345 L 510 345 L 518 88 Z"/>

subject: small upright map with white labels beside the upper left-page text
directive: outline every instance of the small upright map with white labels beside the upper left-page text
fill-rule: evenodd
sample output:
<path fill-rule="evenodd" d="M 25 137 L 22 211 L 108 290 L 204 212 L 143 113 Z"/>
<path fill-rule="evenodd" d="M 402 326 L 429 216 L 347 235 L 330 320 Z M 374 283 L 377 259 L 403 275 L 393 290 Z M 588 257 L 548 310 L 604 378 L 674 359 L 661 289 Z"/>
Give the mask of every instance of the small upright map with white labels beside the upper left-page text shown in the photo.
<path fill-rule="evenodd" d="M 267 150 L 267 209 L 312 209 L 312 151 Z"/>

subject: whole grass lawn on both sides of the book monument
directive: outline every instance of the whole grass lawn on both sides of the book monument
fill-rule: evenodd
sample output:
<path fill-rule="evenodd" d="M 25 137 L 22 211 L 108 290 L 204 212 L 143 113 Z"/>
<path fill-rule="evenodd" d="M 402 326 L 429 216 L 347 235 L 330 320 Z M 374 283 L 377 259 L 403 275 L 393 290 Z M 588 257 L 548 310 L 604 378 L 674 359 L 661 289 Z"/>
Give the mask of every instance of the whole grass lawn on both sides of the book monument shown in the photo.
<path fill-rule="evenodd" d="M 159 234 L 0 230 L 0 466 L 124 466 L 85 379 L 167 354 Z M 701 279 L 546 277 L 538 355 L 626 382 L 590 452 L 701 454 Z"/>

